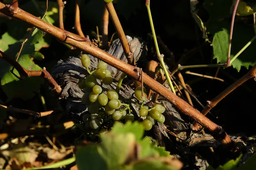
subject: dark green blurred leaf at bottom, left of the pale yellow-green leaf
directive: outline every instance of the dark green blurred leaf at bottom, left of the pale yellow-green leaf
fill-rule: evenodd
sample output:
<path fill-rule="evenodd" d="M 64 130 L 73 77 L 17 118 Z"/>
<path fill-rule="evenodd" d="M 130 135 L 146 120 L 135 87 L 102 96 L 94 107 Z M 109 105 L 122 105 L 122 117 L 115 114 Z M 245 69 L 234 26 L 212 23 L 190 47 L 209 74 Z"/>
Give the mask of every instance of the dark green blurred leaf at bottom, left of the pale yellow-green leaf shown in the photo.
<path fill-rule="evenodd" d="M 107 164 L 99 155 L 97 145 L 81 147 L 76 152 L 76 163 L 79 170 L 107 170 Z"/>

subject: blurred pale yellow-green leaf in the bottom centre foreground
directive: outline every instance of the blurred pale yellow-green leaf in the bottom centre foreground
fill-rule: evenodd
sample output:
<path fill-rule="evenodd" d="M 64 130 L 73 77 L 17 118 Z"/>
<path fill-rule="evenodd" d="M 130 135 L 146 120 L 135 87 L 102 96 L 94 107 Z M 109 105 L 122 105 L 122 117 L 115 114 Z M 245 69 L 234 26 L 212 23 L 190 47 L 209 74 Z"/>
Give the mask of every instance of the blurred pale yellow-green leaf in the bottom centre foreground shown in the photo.
<path fill-rule="evenodd" d="M 106 133 L 101 136 L 102 144 L 98 152 L 108 164 L 108 169 L 122 166 L 134 150 L 135 135 L 133 133 Z"/>

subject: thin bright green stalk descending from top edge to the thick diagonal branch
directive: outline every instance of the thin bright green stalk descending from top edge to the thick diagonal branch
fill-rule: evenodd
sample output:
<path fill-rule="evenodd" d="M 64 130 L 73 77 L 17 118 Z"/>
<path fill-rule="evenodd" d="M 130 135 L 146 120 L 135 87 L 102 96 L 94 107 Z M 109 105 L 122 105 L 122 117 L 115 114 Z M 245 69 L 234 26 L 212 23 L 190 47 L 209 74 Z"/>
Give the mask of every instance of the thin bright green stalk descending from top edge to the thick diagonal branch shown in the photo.
<path fill-rule="evenodd" d="M 170 76 L 169 76 L 168 71 L 166 69 L 165 63 L 163 61 L 163 55 L 160 54 L 160 51 L 159 51 L 159 48 L 158 48 L 157 36 L 156 36 L 155 30 L 154 30 L 154 24 L 153 24 L 153 20 L 152 20 L 152 16 L 151 16 L 151 11 L 150 11 L 150 3 L 146 3 L 146 7 L 147 7 L 147 10 L 148 10 L 148 17 L 149 17 L 149 22 L 150 22 L 152 34 L 153 34 L 154 44 L 156 46 L 157 58 L 160 61 L 160 64 L 161 64 L 161 66 L 163 68 L 163 71 L 164 71 L 164 73 L 166 75 L 166 79 L 167 79 L 167 81 L 169 83 L 170 88 L 172 89 L 172 93 L 174 93 L 176 95 L 175 89 L 174 89 L 174 87 L 172 85 L 172 81 L 170 79 Z"/>

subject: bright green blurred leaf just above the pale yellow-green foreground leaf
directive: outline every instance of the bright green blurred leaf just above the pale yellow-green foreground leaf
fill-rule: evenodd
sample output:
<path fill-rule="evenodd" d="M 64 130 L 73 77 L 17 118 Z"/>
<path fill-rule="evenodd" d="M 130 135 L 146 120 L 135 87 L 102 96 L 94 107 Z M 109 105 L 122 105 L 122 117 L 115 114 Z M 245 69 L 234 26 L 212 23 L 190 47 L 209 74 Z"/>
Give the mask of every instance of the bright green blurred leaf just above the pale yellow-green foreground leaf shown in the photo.
<path fill-rule="evenodd" d="M 139 141 L 144 133 L 143 125 L 137 121 L 126 122 L 124 126 L 116 124 L 111 130 L 112 133 L 124 134 L 124 133 L 134 133 L 136 141 Z"/>

